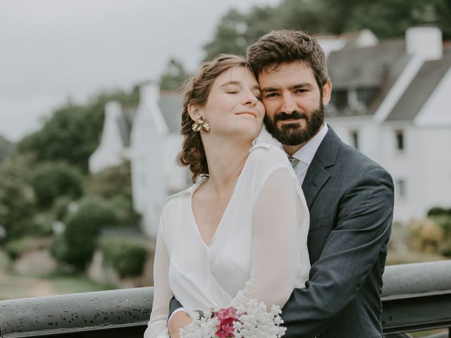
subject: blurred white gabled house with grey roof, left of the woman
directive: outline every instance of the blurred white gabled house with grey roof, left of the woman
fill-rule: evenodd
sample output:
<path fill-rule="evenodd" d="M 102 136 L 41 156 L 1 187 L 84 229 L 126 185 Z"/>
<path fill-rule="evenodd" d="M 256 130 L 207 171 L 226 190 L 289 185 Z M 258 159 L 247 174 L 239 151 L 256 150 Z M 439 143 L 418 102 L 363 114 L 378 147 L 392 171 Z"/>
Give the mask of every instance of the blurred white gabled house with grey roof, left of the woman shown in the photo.
<path fill-rule="evenodd" d="M 89 158 L 92 173 L 130 160 L 133 204 L 149 236 L 156 235 L 166 198 L 190 184 L 186 168 L 175 163 L 183 141 L 181 109 L 180 93 L 160 93 L 154 83 L 140 87 L 137 107 L 107 103 L 101 142 Z"/>

